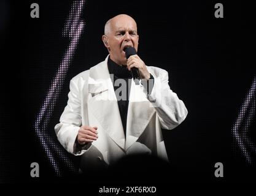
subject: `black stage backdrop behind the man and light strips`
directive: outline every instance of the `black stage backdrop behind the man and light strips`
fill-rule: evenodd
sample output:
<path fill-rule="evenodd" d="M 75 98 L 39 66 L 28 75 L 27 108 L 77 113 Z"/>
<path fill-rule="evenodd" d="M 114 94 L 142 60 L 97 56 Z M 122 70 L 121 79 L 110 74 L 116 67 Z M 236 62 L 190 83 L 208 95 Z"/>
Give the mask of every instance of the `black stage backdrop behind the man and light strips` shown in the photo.
<path fill-rule="evenodd" d="M 83 181 L 65 165 L 60 165 L 63 177 L 56 177 L 33 127 L 68 47 L 69 40 L 61 32 L 72 1 L 36 1 L 40 18 L 30 17 L 33 2 L 2 1 L 1 6 L 1 182 Z M 171 89 L 188 109 L 180 126 L 163 130 L 170 164 L 163 164 L 166 170 L 159 174 L 162 163 L 152 161 L 155 165 L 147 175 L 165 176 L 165 183 L 255 182 L 254 165 L 247 165 L 238 149 L 234 153 L 231 135 L 255 76 L 255 12 L 248 2 L 222 1 L 224 18 L 215 18 L 217 2 L 86 1 L 85 30 L 48 126 L 49 134 L 56 140 L 53 127 L 68 100 L 71 78 L 106 58 L 101 42 L 104 24 L 126 13 L 137 21 L 138 55 L 147 66 L 169 72 Z M 250 130 L 255 130 L 255 122 Z M 31 162 L 39 163 L 39 178 L 31 178 Z M 224 178 L 215 178 L 216 162 L 223 163 Z M 124 173 L 137 171 L 137 162 L 128 163 L 130 168 L 123 167 Z M 101 182 L 111 179 L 117 183 L 113 174 Z M 138 184 L 150 182 L 139 179 Z M 132 182 L 132 178 L 126 179 L 126 183 Z"/>

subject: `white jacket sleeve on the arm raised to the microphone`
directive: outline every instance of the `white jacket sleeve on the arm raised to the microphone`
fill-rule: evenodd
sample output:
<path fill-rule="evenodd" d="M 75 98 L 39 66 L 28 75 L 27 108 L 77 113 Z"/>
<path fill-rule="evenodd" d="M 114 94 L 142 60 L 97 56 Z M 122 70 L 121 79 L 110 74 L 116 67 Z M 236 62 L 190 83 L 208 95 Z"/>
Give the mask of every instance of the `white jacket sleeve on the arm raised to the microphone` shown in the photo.
<path fill-rule="evenodd" d="M 166 70 L 160 69 L 157 76 L 154 77 L 153 89 L 148 95 L 148 99 L 155 107 L 163 129 L 174 129 L 187 116 L 188 111 L 184 102 L 168 85 L 168 72 Z"/>

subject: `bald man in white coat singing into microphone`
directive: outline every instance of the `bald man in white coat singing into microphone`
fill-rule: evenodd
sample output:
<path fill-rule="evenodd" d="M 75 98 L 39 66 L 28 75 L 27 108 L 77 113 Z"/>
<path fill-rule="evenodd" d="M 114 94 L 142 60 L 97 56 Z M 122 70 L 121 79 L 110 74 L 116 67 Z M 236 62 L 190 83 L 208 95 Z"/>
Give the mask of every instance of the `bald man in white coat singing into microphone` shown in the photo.
<path fill-rule="evenodd" d="M 138 55 L 126 59 L 125 48 L 137 51 L 139 43 L 128 15 L 107 21 L 102 40 L 109 56 L 72 78 L 68 105 L 55 126 L 58 140 L 69 153 L 83 154 L 82 165 L 111 165 L 129 154 L 168 160 L 161 128 L 174 129 L 187 116 L 169 88 L 168 72 L 145 66 Z M 135 85 L 132 67 L 143 85 Z"/>

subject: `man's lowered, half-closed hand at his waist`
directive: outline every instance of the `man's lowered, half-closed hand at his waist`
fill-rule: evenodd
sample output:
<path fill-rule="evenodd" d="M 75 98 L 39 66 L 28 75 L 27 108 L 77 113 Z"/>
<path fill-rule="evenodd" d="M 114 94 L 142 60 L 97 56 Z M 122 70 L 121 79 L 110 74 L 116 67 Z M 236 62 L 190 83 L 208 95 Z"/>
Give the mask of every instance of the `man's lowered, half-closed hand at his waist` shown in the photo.
<path fill-rule="evenodd" d="M 85 145 L 91 143 L 98 138 L 97 127 L 82 126 L 77 134 L 77 141 L 79 145 Z"/>

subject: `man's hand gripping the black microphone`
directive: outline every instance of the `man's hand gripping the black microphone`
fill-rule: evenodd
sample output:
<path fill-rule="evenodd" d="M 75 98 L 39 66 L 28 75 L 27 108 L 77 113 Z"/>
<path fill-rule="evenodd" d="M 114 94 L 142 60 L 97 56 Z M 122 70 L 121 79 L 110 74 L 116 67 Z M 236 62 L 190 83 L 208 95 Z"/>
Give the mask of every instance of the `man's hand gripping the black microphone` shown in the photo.
<path fill-rule="evenodd" d="M 131 55 L 127 60 L 127 68 L 131 70 L 131 67 L 137 67 L 139 69 L 139 74 L 141 75 L 141 79 L 149 80 L 150 74 L 145 67 L 145 63 L 139 58 L 138 55 Z"/>

